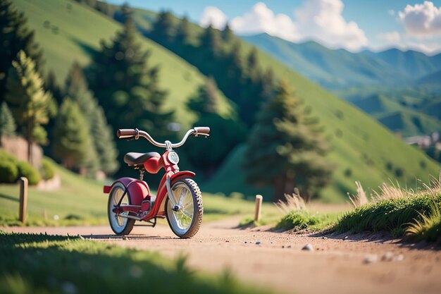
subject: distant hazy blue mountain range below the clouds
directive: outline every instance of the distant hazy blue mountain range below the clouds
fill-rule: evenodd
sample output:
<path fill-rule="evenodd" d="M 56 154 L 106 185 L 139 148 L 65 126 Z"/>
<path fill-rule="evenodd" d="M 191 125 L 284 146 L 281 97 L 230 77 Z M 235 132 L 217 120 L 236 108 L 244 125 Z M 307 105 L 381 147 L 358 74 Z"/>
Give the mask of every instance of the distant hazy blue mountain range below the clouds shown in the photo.
<path fill-rule="evenodd" d="M 266 33 L 242 36 L 268 54 L 330 90 L 366 85 L 405 86 L 433 82 L 441 75 L 441 54 L 388 49 L 352 53 L 317 42 L 292 43 Z"/>

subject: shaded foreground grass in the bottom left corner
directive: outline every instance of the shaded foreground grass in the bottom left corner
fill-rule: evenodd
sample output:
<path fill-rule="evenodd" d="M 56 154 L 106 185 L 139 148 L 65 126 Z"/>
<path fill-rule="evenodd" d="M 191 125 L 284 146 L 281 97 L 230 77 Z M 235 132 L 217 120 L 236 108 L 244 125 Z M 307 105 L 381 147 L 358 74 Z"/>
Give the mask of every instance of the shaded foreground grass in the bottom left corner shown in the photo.
<path fill-rule="evenodd" d="M 225 271 L 80 238 L 0 231 L 0 293 L 268 293 Z"/>

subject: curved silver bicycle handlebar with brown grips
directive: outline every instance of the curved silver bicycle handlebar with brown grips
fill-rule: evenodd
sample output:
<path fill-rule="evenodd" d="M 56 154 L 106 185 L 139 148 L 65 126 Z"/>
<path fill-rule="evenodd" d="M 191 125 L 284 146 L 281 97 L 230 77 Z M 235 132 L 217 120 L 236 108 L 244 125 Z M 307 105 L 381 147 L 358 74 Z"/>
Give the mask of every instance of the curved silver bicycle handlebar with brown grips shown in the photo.
<path fill-rule="evenodd" d="M 116 137 L 118 137 L 118 139 L 125 139 L 125 138 L 134 137 L 135 140 L 138 140 L 139 137 L 144 137 L 149 142 L 151 142 L 151 144 L 155 145 L 156 147 L 161 147 L 161 148 L 168 148 L 168 144 L 172 148 L 181 147 L 182 145 L 184 145 L 185 141 L 187 141 L 187 139 L 188 139 L 188 137 L 190 137 L 190 135 L 194 135 L 195 137 L 197 137 L 199 135 L 208 137 L 210 135 L 210 128 L 209 127 L 194 127 L 190 130 L 187 130 L 187 133 L 185 133 L 184 137 L 182 137 L 182 140 L 180 140 L 180 142 L 175 143 L 175 144 L 172 144 L 170 141 L 166 141 L 165 143 L 156 142 L 151 137 L 151 135 L 149 135 L 149 133 L 144 132 L 144 130 L 138 130 L 137 128 L 135 128 L 135 129 L 133 129 L 133 128 L 119 129 L 116 131 Z"/>

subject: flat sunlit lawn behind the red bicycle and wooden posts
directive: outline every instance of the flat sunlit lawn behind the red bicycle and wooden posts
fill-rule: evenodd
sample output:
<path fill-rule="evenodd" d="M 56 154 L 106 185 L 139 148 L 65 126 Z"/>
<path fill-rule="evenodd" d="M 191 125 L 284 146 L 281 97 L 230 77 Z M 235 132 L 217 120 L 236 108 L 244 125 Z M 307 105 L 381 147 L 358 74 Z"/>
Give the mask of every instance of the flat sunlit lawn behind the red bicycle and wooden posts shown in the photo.
<path fill-rule="evenodd" d="M 42 191 L 30 186 L 27 196 L 27 221 L 24 225 L 107 224 L 108 196 L 103 193 L 104 184 L 67 171 L 54 162 L 52 164 L 56 174 L 61 177 L 61 188 Z M 146 176 L 146 180 L 148 181 L 148 176 Z M 225 195 L 214 195 L 207 192 L 203 192 L 202 197 L 204 221 L 214 221 L 228 216 L 247 217 L 254 213 L 254 202 L 244 200 L 241 197 L 225 197 Z M 0 225 L 23 226 L 18 221 L 18 206 L 18 185 L 1 184 Z M 264 204 L 263 212 L 268 216 L 277 213 L 273 204 Z M 58 220 L 54 219 L 57 216 Z"/>

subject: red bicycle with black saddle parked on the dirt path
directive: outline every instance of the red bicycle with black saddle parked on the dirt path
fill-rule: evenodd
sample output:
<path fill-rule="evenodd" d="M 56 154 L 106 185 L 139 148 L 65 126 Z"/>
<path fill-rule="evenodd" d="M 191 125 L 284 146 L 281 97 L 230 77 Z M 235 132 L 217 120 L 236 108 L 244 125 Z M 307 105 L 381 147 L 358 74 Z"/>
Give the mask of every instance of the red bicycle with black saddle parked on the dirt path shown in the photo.
<path fill-rule="evenodd" d="M 108 197 L 108 222 L 117 235 L 127 235 L 132 231 L 135 221 L 147 221 L 156 225 L 157 218 L 167 218 L 168 225 L 180 238 L 190 238 L 199 231 L 204 214 L 201 190 L 192 180 L 195 173 L 179 171 L 179 157 L 173 148 L 184 145 L 188 137 L 208 137 L 210 128 L 195 127 L 185 133 L 182 140 L 172 144 L 170 141 L 159 143 L 142 130 L 121 129 L 116 135 L 120 139 L 144 137 L 157 147 L 166 148 L 160 155 L 157 152 L 125 154 L 124 161 L 139 170 L 137 178 L 119 178 L 112 185 L 104 186 Z M 165 174 L 159 184 L 157 195 L 152 195 L 149 185 L 144 182 L 144 172 Z"/>

